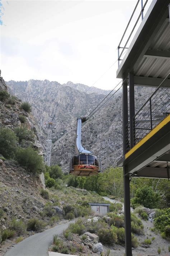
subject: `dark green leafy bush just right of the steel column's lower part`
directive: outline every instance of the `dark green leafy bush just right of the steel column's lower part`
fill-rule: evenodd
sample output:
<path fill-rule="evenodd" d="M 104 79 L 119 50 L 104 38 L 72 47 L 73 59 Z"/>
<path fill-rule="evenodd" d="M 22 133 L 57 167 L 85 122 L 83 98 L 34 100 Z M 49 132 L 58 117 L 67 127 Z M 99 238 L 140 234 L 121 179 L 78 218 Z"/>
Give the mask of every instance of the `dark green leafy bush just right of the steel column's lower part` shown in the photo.
<path fill-rule="evenodd" d="M 139 203 L 147 208 L 156 208 L 160 201 L 160 196 L 155 193 L 152 187 L 147 185 L 138 188 L 135 197 L 132 199 L 132 204 Z"/>

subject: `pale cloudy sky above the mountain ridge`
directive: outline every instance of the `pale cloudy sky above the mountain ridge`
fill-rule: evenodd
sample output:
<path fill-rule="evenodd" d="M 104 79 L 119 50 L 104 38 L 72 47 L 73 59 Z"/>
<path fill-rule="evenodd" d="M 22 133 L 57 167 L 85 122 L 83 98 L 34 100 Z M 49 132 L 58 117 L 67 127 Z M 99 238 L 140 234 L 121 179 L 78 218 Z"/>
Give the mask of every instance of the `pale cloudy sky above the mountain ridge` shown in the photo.
<path fill-rule="evenodd" d="M 113 89 L 120 82 L 117 46 L 136 3 L 0 0 L 1 76 L 5 81 L 47 79 L 92 86 L 104 74 L 94 86 Z M 139 4 L 125 39 L 140 8 Z"/>

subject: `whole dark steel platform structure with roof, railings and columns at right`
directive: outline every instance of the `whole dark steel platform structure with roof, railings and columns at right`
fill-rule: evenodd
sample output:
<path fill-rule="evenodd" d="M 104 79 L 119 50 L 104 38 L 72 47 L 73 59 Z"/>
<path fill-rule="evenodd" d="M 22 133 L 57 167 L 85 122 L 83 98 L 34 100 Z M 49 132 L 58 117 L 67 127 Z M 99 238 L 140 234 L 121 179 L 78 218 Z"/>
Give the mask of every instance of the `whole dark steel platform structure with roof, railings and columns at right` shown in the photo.
<path fill-rule="evenodd" d="M 169 0 L 153 0 L 145 17 L 142 8 L 142 22 L 129 47 L 128 42 L 121 47 L 122 39 L 118 46 L 117 78 L 122 78 L 123 81 L 123 157 L 117 166 L 123 166 L 126 256 L 132 256 L 129 189 L 131 178 L 170 177 L 169 13 Z M 127 52 L 121 59 L 125 49 Z M 154 93 L 136 113 L 135 85 L 155 87 Z"/>

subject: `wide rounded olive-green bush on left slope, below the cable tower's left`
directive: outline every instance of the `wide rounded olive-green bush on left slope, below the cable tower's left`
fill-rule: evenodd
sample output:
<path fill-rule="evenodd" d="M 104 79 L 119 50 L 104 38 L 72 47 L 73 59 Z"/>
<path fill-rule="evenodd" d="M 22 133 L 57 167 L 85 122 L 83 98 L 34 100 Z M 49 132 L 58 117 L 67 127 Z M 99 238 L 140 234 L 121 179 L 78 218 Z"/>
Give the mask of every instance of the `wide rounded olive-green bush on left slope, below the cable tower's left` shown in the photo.
<path fill-rule="evenodd" d="M 31 172 L 39 172 L 44 169 L 42 157 L 33 148 L 18 148 L 16 160 L 21 166 L 27 167 Z"/>

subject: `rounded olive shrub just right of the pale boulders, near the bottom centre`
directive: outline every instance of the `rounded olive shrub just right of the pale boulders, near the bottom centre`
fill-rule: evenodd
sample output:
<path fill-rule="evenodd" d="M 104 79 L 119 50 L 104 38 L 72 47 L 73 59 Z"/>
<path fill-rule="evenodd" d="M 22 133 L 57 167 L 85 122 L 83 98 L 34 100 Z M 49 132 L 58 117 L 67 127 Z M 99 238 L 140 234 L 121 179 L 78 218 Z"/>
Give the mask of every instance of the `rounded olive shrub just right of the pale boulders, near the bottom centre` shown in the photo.
<path fill-rule="evenodd" d="M 117 242 L 117 234 L 111 229 L 99 229 L 99 241 L 105 244 L 113 244 Z"/>

